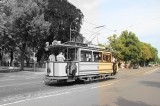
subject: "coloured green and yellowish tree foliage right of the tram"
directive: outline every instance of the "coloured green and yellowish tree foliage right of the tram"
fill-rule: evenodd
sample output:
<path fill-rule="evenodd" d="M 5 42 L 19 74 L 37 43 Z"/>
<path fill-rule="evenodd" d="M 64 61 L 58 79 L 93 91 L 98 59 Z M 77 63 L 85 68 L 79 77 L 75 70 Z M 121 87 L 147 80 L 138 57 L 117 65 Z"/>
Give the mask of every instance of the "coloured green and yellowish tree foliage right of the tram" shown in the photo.
<path fill-rule="evenodd" d="M 132 32 L 123 31 L 118 37 L 112 35 L 108 38 L 109 46 L 116 50 L 116 57 L 122 61 L 132 63 L 158 60 L 158 51 L 150 44 L 140 42 Z"/>

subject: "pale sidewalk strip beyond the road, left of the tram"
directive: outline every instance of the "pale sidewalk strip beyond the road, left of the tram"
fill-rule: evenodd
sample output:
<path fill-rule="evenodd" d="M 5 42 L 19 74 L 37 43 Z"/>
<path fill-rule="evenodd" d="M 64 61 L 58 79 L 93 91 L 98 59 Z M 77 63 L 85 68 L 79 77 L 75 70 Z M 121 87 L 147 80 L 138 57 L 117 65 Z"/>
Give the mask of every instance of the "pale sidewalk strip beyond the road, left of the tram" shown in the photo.
<path fill-rule="evenodd" d="M 8 72 L 19 72 L 20 67 L 7 67 L 7 66 L 0 66 L 0 73 L 8 73 Z M 30 72 L 44 72 L 45 68 L 28 68 L 24 67 L 23 71 L 30 71 Z"/>

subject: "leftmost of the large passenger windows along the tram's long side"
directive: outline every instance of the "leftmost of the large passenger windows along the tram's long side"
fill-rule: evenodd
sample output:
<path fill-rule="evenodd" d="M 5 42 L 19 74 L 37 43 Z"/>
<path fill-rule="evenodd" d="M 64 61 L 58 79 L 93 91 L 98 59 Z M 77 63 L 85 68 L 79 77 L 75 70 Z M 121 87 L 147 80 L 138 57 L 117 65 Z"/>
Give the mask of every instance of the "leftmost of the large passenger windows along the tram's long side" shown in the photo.
<path fill-rule="evenodd" d="M 92 52 L 81 51 L 81 61 L 83 62 L 92 61 Z"/>

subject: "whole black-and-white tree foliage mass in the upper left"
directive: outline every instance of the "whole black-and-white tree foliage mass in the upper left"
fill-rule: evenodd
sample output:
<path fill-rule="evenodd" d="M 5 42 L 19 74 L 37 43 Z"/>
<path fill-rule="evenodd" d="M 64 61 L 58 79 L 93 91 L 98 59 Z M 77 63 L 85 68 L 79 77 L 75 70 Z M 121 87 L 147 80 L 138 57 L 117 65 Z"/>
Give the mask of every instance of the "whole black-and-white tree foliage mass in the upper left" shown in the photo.
<path fill-rule="evenodd" d="M 82 12 L 67 0 L 3 0 L 0 37 L 6 39 L 10 49 L 21 54 L 23 70 L 25 57 L 35 50 L 41 57 L 46 41 L 63 43 L 69 41 L 70 35 L 72 40 L 82 41 L 82 19 Z"/>

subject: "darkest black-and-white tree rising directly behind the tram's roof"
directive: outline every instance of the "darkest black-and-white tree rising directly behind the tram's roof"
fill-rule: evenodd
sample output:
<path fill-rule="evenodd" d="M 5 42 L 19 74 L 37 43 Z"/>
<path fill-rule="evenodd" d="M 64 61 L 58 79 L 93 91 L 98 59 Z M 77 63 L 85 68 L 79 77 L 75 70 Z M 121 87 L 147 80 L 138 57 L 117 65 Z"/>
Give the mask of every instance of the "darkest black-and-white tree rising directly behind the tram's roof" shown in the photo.
<path fill-rule="evenodd" d="M 60 40 L 62 43 L 70 40 L 82 42 L 82 35 L 79 33 L 83 14 L 80 9 L 69 3 L 67 0 L 48 0 L 48 9 L 45 10 L 45 19 L 51 23 L 50 36 L 48 41 Z"/>

